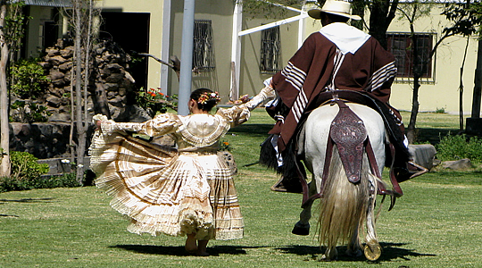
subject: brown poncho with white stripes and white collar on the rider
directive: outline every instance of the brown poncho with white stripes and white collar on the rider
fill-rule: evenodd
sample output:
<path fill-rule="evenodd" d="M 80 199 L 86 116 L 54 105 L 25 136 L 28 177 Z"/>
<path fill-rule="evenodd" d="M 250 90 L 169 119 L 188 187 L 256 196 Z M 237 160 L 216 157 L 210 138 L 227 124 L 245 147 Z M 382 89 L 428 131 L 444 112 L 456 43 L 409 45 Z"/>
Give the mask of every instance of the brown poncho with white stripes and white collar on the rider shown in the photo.
<path fill-rule="evenodd" d="M 351 37 L 334 38 L 338 32 L 346 34 L 339 29 L 358 35 L 355 37 L 358 45 L 347 45 L 353 41 Z M 278 120 L 270 130 L 270 134 L 280 136 L 278 150 L 283 151 L 287 147 L 298 121 L 303 113 L 315 108 L 310 105 L 320 92 L 328 89 L 368 91 L 387 103 L 395 74 L 394 55 L 380 46 L 375 38 L 358 29 L 345 23 L 331 23 L 320 32 L 313 33 L 287 66 L 272 78 L 273 88 L 289 109 L 284 119 Z M 276 108 L 268 109 L 275 111 Z"/>

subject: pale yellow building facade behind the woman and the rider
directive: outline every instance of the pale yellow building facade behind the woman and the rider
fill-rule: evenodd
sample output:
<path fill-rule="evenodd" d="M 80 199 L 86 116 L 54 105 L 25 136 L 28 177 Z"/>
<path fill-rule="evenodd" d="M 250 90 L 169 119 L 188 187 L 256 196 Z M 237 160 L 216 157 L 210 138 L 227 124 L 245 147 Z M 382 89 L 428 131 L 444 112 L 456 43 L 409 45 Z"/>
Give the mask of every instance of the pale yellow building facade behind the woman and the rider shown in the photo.
<path fill-rule="evenodd" d="M 29 16 L 24 56 L 35 56 L 56 38 L 67 32 L 62 6 L 68 1 L 27 1 Z M 173 0 L 104 0 L 101 38 L 112 38 L 128 53 L 148 53 L 169 62 L 170 56 L 180 58 L 184 1 Z M 234 1 L 195 1 L 195 36 L 193 47 L 192 88 L 212 88 L 220 92 L 223 103 L 248 94 L 255 95 L 262 81 L 280 70 L 291 55 L 312 32 L 320 29 L 320 21 L 307 17 L 303 11 L 316 1 L 307 1 L 302 10 L 288 9 L 285 20 L 266 19 L 265 14 L 243 13 Z M 47 4 L 51 5 L 47 5 Z M 54 4 L 54 5 L 52 5 Z M 403 4 L 401 4 L 403 5 Z M 431 15 L 415 23 L 415 31 L 430 49 L 441 36 L 448 21 L 440 15 L 440 6 L 433 6 Z M 282 9 L 282 7 L 278 7 Z M 410 25 L 406 20 L 392 21 L 388 32 L 388 49 L 397 58 L 399 74 L 395 80 L 391 104 L 400 110 L 411 110 L 411 46 Z M 469 43 L 467 43 L 469 42 Z M 476 38 L 447 38 L 436 50 L 422 78 L 420 111 L 458 113 L 461 63 L 467 46 L 464 65 L 463 112 L 470 113 L 477 58 Z M 182 61 L 182 59 L 180 59 Z M 176 73 L 152 58 L 139 59 L 133 65 L 138 87 L 162 88 L 166 94 L 177 94 Z"/>

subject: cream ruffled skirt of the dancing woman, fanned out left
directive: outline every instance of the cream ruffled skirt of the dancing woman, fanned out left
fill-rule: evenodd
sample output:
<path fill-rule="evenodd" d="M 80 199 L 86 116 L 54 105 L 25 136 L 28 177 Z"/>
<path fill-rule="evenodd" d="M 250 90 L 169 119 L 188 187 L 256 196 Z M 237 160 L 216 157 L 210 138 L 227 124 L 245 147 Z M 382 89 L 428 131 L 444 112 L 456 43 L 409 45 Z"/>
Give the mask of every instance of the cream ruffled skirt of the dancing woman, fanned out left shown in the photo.
<path fill-rule="evenodd" d="M 96 186 L 131 219 L 128 230 L 196 239 L 240 239 L 231 172 L 215 154 L 180 153 L 123 131 L 97 130 L 89 149 Z"/>

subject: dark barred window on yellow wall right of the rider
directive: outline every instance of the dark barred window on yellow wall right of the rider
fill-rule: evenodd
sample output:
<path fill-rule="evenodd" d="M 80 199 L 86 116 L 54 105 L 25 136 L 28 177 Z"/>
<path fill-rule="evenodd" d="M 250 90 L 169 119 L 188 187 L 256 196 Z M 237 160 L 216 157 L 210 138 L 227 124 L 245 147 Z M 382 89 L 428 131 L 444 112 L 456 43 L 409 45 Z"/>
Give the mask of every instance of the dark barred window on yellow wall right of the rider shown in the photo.
<path fill-rule="evenodd" d="M 432 50 L 433 34 L 417 33 L 416 38 L 415 46 L 419 53 L 417 68 L 422 69 L 420 78 L 433 81 L 433 57 L 428 57 Z M 389 33 L 386 35 L 386 43 L 388 51 L 395 55 L 395 65 L 398 69 L 397 81 L 413 77 L 414 58 L 411 50 L 411 35 L 409 33 Z"/>

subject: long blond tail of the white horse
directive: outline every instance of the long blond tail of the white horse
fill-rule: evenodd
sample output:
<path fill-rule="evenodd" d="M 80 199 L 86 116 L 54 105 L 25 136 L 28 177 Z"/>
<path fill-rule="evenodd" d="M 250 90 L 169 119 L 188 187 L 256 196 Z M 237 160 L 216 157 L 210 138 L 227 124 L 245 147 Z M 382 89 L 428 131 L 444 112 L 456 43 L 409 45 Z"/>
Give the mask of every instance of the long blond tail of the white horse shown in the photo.
<path fill-rule="evenodd" d="M 377 188 L 366 154 L 363 155 L 361 180 L 353 184 L 346 178 L 337 147 L 333 150 L 318 220 L 320 246 L 327 247 L 336 247 L 337 242 L 347 243 L 358 233 L 370 207 L 370 190 Z M 360 245 L 360 240 L 356 243 Z"/>

